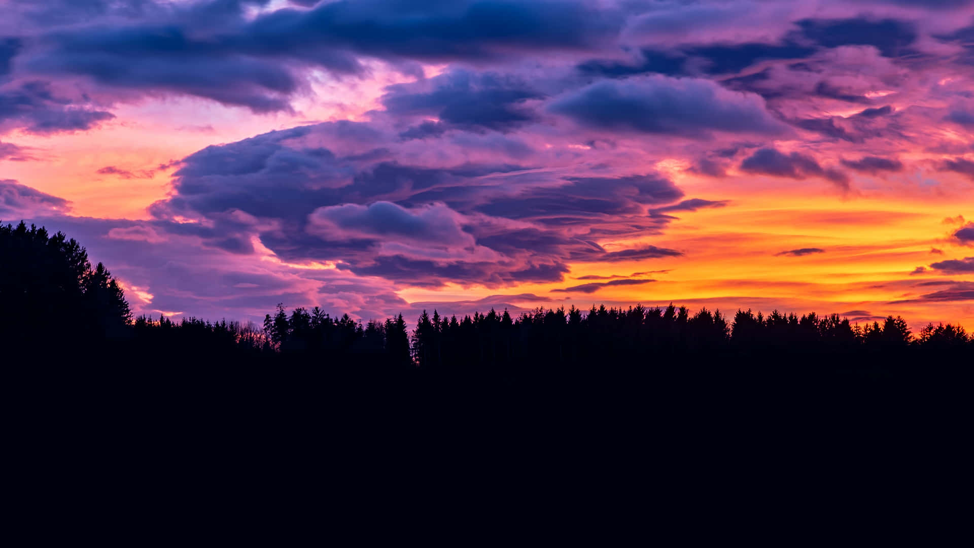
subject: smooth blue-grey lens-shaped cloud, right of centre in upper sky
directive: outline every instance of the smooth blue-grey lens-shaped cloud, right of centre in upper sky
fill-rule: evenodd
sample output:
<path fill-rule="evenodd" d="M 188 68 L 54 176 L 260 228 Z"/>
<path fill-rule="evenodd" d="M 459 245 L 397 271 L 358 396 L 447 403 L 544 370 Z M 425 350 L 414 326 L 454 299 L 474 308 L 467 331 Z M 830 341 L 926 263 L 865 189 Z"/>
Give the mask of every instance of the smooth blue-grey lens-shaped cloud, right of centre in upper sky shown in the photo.
<path fill-rule="evenodd" d="M 711 131 L 778 135 L 764 101 L 708 80 L 662 76 L 603 81 L 557 98 L 549 110 L 599 130 L 704 137 Z"/>

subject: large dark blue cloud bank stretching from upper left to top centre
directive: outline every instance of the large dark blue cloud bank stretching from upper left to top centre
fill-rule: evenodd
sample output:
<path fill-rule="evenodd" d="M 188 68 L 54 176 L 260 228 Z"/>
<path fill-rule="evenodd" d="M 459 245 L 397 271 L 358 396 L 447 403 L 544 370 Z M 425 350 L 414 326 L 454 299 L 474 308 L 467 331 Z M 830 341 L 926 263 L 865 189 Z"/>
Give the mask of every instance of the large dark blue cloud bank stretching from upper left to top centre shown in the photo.
<path fill-rule="evenodd" d="M 289 98 L 305 86 L 296 75 L 305 66 L 364 74 L 357 58 L 371 56 L 417 73 L 411 59 L 484 61 L 512 50 L 587 48 L 615 36 L 621 24 L 612 11 L 582 2 L 338 0 L 255 19 L 245 4 L 267 2 L 161 5 L 137 22 L 108 19 L 108 6 L 101 6 L 73 21 L 92 23 L 44 35 L 45 47 L 26 64 L 111 88 L 270 112 L 290 108 Z"/>

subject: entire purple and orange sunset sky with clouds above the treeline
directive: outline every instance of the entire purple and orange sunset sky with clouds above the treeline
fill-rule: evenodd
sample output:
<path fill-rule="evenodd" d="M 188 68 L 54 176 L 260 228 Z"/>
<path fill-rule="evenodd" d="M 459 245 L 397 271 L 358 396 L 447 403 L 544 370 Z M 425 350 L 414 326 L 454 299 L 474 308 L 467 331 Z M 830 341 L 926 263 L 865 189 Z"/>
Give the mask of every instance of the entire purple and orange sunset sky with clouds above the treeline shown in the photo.
<path fill-rule="evenodd" d="M 974 328 L 974 2 L 0 0 L 0 219 L 137 314 Z"/>

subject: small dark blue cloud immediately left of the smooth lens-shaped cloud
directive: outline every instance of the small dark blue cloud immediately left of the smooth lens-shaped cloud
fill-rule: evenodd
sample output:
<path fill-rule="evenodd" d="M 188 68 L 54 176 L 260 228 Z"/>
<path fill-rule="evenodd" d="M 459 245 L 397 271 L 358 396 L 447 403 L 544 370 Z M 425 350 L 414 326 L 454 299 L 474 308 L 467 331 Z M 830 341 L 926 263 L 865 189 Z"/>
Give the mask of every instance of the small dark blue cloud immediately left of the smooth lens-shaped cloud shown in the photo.
<path fill-rule="evenodd" d="M 390 86 L 382 102 L 393 115 L 432 115 L 452 127 L 506 131 L 535 120 L 523 105 L 532 98 L 543 94 L 517 78 L 453 70 L 430 80 Z"/>

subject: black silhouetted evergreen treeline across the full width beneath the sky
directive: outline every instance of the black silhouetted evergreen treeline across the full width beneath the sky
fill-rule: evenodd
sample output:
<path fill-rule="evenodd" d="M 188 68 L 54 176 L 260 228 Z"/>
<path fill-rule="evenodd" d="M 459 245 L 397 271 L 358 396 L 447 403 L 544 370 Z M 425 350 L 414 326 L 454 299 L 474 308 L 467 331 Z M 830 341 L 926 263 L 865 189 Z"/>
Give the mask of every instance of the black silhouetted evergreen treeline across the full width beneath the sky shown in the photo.
<path fill-rule="evenodd" d="M 348 314 L 333 318 L 317 306 L 288 313 L 281 304 L 261 327 L 196 318 L 172 322 L 140 316 L 133 321 L 124 292 L 108 270 L 100 263 L 93 267 L 85 249 L 61 233 L 49 235 L 22 222 L 0 226 L 0 256 L 0 333 L 35 343 L 54 337 L 107 341 L 169 356 L 316 355 L 335 363 L 430 372 L 720 360 L 762 352 L 974 352 L 974 338 L 950 324 L 931 324 L 914 336 L 900 317 L 859 326 L 838 315 L 773 311 L 765 316 L 738 310 L 729 321 L 719 310 L 691 314 L 672 304 L 593 305 L 587 313 L 574 306 L 539 308 L 517 317 L 492 309 L 462 319 L 424 311 L 412 331 L 401 314 L 363 326 Z"/>

